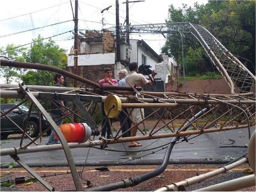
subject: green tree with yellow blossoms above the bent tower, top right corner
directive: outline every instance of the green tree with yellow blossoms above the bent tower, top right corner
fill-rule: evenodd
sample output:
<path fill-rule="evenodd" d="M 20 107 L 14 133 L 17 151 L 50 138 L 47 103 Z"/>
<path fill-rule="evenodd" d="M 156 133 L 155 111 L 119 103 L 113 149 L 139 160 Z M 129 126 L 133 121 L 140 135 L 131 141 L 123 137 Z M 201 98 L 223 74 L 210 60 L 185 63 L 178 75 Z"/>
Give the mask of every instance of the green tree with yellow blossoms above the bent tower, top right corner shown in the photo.
<path fill-rule="evenodd" d="M 255 74 L 256 1 L 209 1 L 206 6 L 212 12 L 202 25 Z"/>

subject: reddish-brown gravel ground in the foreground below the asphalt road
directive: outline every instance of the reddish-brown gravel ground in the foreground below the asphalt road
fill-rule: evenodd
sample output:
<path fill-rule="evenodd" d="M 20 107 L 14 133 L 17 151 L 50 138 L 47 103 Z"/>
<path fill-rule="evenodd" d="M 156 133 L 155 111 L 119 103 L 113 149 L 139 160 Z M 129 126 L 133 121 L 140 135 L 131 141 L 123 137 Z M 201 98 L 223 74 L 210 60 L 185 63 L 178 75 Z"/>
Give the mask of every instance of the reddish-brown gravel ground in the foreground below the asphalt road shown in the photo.
<path fill-rule="evenodd" d="M 157 177 L 146 180 L 137 186 L 128 187 L 125 189 L 116 189 L 115 191 L 152 191 L 159 189 L 165 185 L 171 183 L 177 183 L 190 177 L 204 174 L 209 171 L 218 169 L 223 165 L 218 164 L 190 164 L 190 165 L 168 165 L 166 170 Z M 98 186 L 119 182 L 129 177 L 136 177 L 142 174 L 148 173 L 159 166 L 111 166 L 107 171 L 98 171 L 99 167 L 77 167 L 77 170 L 82 174 L 79 174 L 81 185 L 83 190 L 95 188 Z M 188 186 L 186 191 L 193 191 L 195 189 L 203 188 L 207 185 L 213 185 L 216 183 L 224 182 L 226 180 L 235 179 L 237 177 L 243 177 L 248 174 L 244 170 L 250 168 L 248 164 L 241 165 L 236 169 L 232 169 L 229 172 L 215 176 L 207 181 Z M 70 174 L 69 167 L 34 167 L 33 170 L 46 180 L 49 185 L 53 186 L 56 191 L 71 190 L 75 191 L 75 185 L 73 183 L 72 176 Z M 26 176 L 26 179 L 32 177 L 23 168 L 1 169 L 1 183 L 7 180 L 15 180 L 15 177 Z M 87 181 L 90 181 L 92 186 L 86 187 Z M 255 191 L 255 186 L 240 189 L 237 191 Z M 10 189 L 10 187 L 1 186 L 1 191 L 48 191 L 41 183 L 34 182 L 28 185 L 24 183 L 17 184 Z"/>

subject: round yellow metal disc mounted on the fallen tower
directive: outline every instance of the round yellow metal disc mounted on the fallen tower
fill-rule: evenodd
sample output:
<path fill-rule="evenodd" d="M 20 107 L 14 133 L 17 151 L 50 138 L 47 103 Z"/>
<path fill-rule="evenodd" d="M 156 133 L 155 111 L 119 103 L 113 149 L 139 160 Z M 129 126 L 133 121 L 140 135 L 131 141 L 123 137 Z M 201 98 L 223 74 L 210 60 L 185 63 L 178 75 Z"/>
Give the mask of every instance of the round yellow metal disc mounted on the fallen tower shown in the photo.
<path fill-rule="evenodd" d="M 104 102 L 104 111 L 109 118 L 117 117 L 122 110 L 122 102 L 116 95 L 108 95 Z"/>

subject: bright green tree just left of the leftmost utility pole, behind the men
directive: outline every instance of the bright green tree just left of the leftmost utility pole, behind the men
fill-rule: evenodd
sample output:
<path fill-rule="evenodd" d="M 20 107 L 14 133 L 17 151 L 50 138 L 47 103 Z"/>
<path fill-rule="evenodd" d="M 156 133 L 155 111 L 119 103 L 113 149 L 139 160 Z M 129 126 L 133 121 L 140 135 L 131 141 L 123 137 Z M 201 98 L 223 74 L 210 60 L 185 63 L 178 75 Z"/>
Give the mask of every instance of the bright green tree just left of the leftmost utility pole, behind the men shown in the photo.
<path fill-rule="evenodd" d="M 48 42 L 43 40 L 44 38 L 40 35 L 32 40 L 33 44 L 25 56 L 26 62 L 65 69 L 65 66 L 67 66 L 67 55 L 64 49 L 60 49 L 51 39 Z M 54 75 L 55 73 L 50 71 L 29 70 L 25 75 L 21 76 L 21 79 L 25 84 L 51 86 Z"/>

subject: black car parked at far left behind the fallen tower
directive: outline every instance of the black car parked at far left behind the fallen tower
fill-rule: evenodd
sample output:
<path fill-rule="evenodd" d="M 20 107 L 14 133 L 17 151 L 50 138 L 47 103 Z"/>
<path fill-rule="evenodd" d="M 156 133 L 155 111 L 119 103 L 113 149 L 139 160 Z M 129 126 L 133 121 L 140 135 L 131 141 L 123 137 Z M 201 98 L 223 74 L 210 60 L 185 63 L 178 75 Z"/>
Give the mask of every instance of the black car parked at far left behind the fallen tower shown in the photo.
<path fill-rule="evenodd" d="M 16 106 L 16 104 L 1 104 L 1 111 L 6 112 L 9 109 L 13 108 Z M 14 110 L 10 111 L 6 116 L 8 116 L 12 121 L 14 121 L 20 128 L 23 129 L 23 126 L 26 123 L 26 119 L 28 118 L 27 114 L 29 112 L 29 108 L 26 107 L 26 105 L 20 105 Z M 41 128 L 42 132 L 49 127 L 49 123 L 47 120 L 44 118 L 43 115 L 41 115 Z M 1 139 L 6 139 L 8 135 L 10 134 L 20 134 L 22 131 L 20 131 L 17 126 L 14 125 L 13 122 L 11 122 L 9 119 L 6 117 L 1 118 L 0 122 L 0 136 Z M 29 116 L 29 123 L 27 127 L 26 133 L 30 137 L 36 137 L 39 134 L 39 114 L 38 112 L 32 112 L 30 113 Z M 51 134 L 51 129 L 47 131 L 47 134 Z"/>

